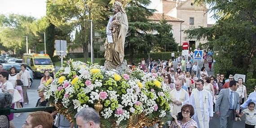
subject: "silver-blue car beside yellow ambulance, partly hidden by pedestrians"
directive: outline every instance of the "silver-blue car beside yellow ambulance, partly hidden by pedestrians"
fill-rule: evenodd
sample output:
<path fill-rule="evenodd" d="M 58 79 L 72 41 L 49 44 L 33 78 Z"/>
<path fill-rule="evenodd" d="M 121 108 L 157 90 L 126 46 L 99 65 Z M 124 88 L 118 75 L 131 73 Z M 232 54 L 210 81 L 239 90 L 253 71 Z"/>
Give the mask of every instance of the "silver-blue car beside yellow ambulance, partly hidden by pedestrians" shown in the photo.
<path fill-rule="evenodd" d="M 21 64 L 22 64 L 22 63 L 4 63 L 4 64 L 2 64 L 2 65 L 3 65 L 3 69 L 4 69 L 5 71 L 10 72 L 10 68 L 11 68 L 12 66 L 14 66 L 14 67 L 17 69 L 17 72 L 20 72 L 20 71 L 21 71 Z M 32 83 L 33 83 L 33 79 L 34 79 L 33 71 L 31 70 L 31 67 L 28 66 L 27 64 L 26 64 L 26 70 L 29 71 L 29 73 L 30 73 L 30 81 L 31 81 L 31 82 L 30 82 L 30 86 L 31 86 Z"/>

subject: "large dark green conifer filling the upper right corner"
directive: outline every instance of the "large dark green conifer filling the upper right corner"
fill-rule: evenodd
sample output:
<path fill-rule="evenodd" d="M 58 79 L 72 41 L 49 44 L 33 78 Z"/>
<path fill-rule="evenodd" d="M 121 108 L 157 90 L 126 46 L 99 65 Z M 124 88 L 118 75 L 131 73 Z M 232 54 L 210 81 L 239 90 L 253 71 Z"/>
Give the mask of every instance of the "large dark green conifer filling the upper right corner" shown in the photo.
<path fill-rule="evenodd" d="M 212 28 L 185 31 L 190 38 L 206 38 L 218 53 L 216 73 L 247 74 L 256 78 L 256 1 L 255 0 L 194 0 L 210 4 L 217 22 Z"/>

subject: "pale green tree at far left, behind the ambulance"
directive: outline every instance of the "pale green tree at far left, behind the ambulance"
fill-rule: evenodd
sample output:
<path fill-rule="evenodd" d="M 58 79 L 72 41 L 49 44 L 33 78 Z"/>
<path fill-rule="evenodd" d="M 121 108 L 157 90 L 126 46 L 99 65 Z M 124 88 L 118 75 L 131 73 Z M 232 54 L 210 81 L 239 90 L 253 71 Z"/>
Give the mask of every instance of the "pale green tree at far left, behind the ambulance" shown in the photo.
<path fill-rule="evenodd" d="M 34 49 L 38 43 L 38 37 L 35 35 L 36 26 L 35 18 L 30 16 L 17 14 L 1 15 L 0 39 L 2 45 L 11 53 L 22 55 L 26 52 L 24 36 L 28 36 L 28 48 Z"/>

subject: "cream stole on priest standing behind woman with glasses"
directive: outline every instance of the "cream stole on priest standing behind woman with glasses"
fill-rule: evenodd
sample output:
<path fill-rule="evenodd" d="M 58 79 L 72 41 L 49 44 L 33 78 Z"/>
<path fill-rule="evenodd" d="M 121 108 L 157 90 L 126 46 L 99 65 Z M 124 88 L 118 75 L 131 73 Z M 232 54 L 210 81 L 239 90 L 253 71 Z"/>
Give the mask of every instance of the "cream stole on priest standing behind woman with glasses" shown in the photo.
<path fill-rule="evenodd" d="M 184 102 L 185 101 L 185 94 L 186 94 L 185 90 L 181 88 L 180 99 L 177 99 L 176 93 L 177 93 L 177 90 L 173 89 L 172 92 L 171 92 L 172 101 L 177 100 L 179 102 Z M 173 104 L 172 114 L 176 115 L 177 113 L 181 112 L 181 107 L 182 107 L 182 105 L 177 106 L 177 105 Z"/>

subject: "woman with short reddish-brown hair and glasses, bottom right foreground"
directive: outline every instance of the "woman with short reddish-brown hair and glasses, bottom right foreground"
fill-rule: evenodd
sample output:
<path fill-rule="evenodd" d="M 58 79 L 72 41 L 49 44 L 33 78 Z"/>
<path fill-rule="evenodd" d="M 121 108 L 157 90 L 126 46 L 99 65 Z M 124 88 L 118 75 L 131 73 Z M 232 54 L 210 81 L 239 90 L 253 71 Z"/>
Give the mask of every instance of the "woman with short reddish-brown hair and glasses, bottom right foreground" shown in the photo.
<path fill-rule="evenodd" d="M 172 115 L 173 122 L 171 128 L 198 128 L 196 121 L 191 117 L 194 115 L 194 108 L 192 105 L 186 104 L 181 107 L 181 120 L 177 120 L 176 115 Z"/>

